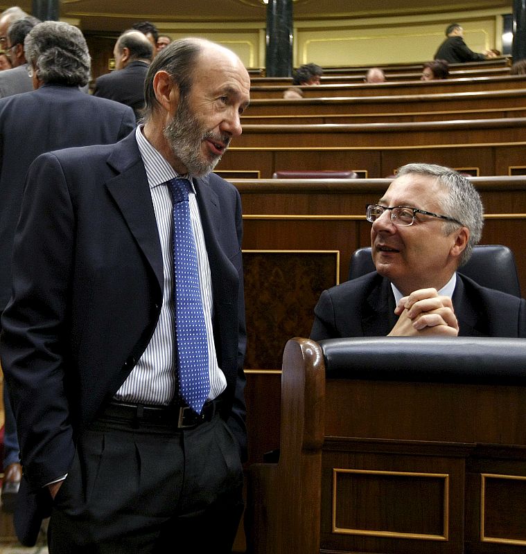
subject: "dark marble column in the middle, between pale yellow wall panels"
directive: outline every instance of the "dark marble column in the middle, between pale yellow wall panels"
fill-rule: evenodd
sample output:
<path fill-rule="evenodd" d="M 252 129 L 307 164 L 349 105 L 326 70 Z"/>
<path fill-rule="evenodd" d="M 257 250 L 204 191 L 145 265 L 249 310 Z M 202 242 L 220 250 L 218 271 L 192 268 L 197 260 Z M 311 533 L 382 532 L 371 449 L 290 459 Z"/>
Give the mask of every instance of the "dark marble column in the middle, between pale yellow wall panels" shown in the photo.
<path fill-rule="evenodd" d="M 292 75 L 292 0 L 268 0 L 267 77 Z"/>

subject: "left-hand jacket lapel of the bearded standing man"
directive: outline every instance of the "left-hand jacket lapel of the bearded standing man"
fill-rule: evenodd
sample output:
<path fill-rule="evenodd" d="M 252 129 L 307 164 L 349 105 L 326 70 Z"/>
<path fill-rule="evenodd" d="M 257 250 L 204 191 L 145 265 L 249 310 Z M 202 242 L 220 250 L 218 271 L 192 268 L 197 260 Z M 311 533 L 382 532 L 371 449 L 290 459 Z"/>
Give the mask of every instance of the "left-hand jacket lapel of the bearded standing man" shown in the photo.
<path fill-rule="evenodd" d="M 161 244 L 146 170 L 134 132 L 117 143 L 107 163 L 119 172 L 119 175 L 107 181 L 107 190 L 119 206 L 130 232 L 152 267 L 162 290 Z"/>

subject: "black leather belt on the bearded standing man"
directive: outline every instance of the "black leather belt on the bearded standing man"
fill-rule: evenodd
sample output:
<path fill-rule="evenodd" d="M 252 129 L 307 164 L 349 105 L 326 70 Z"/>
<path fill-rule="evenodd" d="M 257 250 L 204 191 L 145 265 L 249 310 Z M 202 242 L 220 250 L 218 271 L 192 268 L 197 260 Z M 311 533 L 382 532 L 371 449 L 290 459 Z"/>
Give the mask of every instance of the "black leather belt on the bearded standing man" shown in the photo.
<path fill-rule="evenodd" d="M 177 429 L 192 429 L 204 422 L 211 421 L 218 412 L 220 400 L 211 400 L 204 404 L 202 412 L 195 413 L 190 406 L 169 404 L 168 406 L 150 406 L 148 404 L 128 404 L 112 400 L 101 411 L 100 418 L 128 421 L 132 427 L 141 423 L 167 425 Z"/>

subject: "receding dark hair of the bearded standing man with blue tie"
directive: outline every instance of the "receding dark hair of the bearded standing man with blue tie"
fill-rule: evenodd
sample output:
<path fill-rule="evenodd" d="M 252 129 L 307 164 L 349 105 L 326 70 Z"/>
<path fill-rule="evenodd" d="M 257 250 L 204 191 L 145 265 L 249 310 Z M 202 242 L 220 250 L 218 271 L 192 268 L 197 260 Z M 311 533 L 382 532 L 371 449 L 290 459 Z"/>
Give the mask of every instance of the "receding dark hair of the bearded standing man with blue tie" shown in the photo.
<path fill-rule="evenodd" d="M 179 87 L 181 99 L 186 98 L 192 88 L 195 60 L 200 55 L 204 43 L 203 39 L 195 38 L 175 40 L 155 56 L 148 68 L 146 80 L 144 81 L 144 96 L 146 98 L 146 107 L 144 109 L 145 120 L 148 120 L 152 116 L 153 111 L 159 105 L 153 89 L 155 73 L 157 71 L 169 73 L 173 82 Z"/>

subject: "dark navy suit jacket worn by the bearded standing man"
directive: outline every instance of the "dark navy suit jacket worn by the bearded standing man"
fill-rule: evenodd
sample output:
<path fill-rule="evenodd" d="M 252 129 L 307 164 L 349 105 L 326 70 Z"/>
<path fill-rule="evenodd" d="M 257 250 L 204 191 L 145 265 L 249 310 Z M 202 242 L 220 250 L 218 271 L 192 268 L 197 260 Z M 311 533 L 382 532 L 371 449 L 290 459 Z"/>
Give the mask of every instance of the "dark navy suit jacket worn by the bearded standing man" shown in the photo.
<path fill-rule="evenodd" d="M 26 495 L 27 518 L 31 503 L 40 512 L 50 503 L 42 487 L 68 472 L 76 436 L 148 346 L 160 313 L 163 267 L 134 133 L 116 145 L 43 154 L 26 182 L 1 356 L 24 476 L 42 502 L 35 505 L 35 496 Z M 216 351 L 227 379 L 222 417 L 243 452 L 240 197 L 213 174 L 195 187 L 211 269 Z M 35 514 L 31 521 L 38 521 Z"/>

